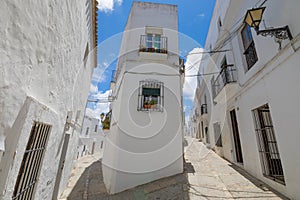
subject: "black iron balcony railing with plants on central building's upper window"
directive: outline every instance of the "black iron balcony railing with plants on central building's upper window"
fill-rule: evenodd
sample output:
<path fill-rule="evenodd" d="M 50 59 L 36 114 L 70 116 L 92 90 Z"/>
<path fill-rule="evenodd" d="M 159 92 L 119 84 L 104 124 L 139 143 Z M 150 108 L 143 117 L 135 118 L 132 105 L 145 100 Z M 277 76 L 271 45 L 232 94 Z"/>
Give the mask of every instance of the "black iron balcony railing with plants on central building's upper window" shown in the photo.
<path fill-rule="evenodd" d="M 141 35 L 140 52 L 167 54 L 168 38 L 163 36 Z"/>

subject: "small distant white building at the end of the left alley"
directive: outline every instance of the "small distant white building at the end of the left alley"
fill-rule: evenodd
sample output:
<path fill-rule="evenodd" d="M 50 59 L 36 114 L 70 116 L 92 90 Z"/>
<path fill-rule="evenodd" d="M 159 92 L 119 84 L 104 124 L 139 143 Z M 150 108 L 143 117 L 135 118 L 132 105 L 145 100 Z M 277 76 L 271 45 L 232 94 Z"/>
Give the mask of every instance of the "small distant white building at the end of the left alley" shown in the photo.
<path fill-rule="evenodd" d="M 77 157 L 101 152 L 103 140 L 104 133 L 100 127 L 100 120 L 84 116 L 81 133 L 79 135 Z"/>

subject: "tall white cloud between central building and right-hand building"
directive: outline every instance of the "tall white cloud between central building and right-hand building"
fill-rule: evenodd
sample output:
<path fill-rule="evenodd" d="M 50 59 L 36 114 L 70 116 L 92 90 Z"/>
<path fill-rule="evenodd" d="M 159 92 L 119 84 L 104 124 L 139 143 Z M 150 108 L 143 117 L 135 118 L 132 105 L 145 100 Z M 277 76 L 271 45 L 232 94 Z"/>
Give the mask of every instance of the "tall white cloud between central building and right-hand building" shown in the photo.
<path fill-rule="evenodd" d="M 197 54 L 203 52 L 202 48 L 194 48 L 189 52 L 187 60 L 185 62 L 185 75 L 196 75 L 198 74 L 202 54 Z M 195 90 L 197 88 L 197 76 L 195 77 L 186 77 L 184 86 L 183 86 L 183 95 L 186 99 L 194 100 Z"/>

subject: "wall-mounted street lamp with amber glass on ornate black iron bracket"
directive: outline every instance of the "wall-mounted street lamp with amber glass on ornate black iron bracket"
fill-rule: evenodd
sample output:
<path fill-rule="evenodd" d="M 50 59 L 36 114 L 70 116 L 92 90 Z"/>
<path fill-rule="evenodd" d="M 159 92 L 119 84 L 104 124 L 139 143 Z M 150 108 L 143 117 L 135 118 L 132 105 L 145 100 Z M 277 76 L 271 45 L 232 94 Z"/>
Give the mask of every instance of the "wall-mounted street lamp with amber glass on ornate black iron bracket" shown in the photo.
<path fill-rule="evenodd" d="M 259 24 L 262 20 L 262 15 L 266 7 L 253 8 L 247 11 L 244 22 L 255 29 L 257 35 L 275 37 L 276 40 L 281 42 L 282 40 L 292 40 L 293 36 L 289 29 L 289 26 L 283 26 L 279 28 L 271 28 L 265 30 L 259 30 Z"/>

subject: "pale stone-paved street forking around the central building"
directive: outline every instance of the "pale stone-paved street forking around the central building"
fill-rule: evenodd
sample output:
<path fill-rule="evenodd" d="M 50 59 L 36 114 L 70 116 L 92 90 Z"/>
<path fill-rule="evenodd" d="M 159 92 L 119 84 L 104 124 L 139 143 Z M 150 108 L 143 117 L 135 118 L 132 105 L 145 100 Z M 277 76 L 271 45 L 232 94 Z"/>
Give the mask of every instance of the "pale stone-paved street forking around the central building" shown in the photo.
<path fill-rule="evenodd" d="M 85 156 L 76 164 L 61 200 L 284 199 L 197 140 L 186 138 L 185 143 L 184 173 L 115 195 L 106 192 L 101 154 Z"/>

